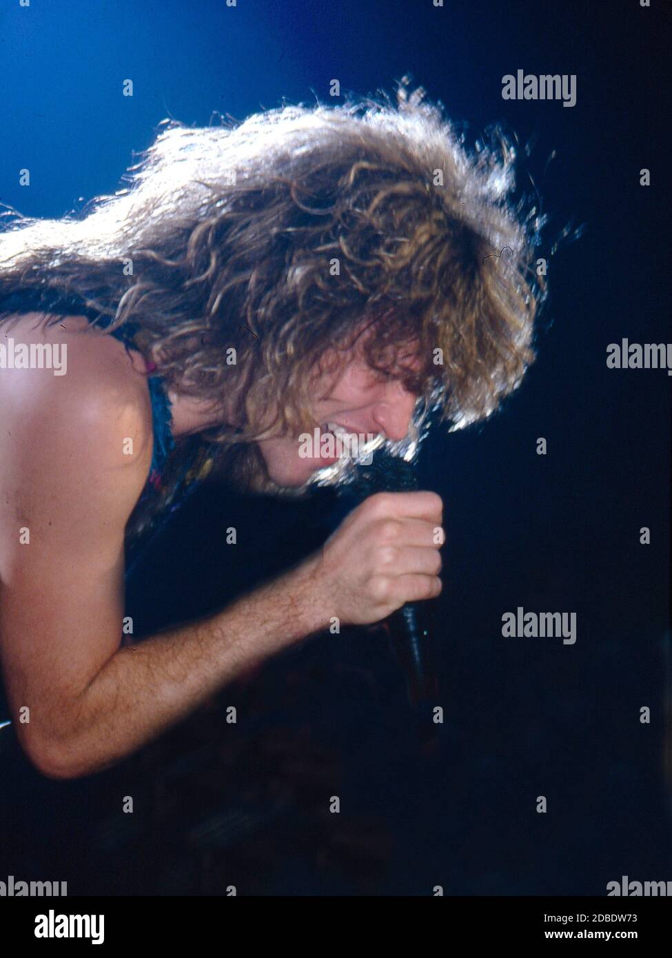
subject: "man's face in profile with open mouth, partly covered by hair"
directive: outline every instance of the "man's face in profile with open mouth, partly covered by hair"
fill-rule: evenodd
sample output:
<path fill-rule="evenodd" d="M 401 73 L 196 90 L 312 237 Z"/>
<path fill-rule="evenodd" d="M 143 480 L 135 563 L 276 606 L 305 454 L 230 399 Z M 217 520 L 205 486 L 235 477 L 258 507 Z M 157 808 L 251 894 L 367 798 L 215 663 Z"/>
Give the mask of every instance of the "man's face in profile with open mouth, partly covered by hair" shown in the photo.
<path fill-rule="evenodd" d="M 408 348 L 400 351 L 398 361 L 406 369 L 419 368 L 419 360 Z M 406 390 L 401 374 L 381 376 L 366 364 L 356 347 L 348 352 L 340 376 L 316 371 L 310 393 L 313 419 L 319 429 L 316 436 L 313 432 L 308 444 L 312 454 L 306 455 L 306 441 L 300 442 L 298 435 L 259 441 L 268 474 L 279 486 L 303 486 L 317 469 L 336 463 L 339 452 L 341 456 L 347 455 L 349 446 L 342 433 L 339 442 L 336 438 L 334 442 L 328 440 L 335 427 L 358 436 L 363 434 L 366 440 L 379 435 L 392 441 L 404 439 L 418 398 Z M 324 454 L 332 449 L 335 455 Z"/>

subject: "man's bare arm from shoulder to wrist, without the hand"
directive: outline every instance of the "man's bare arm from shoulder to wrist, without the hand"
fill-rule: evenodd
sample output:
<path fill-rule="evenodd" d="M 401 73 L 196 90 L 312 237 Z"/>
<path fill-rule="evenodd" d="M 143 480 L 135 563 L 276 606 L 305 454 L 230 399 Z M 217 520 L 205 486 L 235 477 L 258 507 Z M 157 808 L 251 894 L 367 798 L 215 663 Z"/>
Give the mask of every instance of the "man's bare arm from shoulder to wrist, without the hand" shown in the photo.
<path fill-rule="evenodd" d="M 322 625 L 309 560 L 217 615 L 121 648 L 124 528 L 151 431 L 142 401 L 92 363 L 35 401 L 12 384 L 0 437 L 0 661 L 19 740 L 55 778 L 122 758 Z M 17 720 L 25 706 L 30 720 Z"/>

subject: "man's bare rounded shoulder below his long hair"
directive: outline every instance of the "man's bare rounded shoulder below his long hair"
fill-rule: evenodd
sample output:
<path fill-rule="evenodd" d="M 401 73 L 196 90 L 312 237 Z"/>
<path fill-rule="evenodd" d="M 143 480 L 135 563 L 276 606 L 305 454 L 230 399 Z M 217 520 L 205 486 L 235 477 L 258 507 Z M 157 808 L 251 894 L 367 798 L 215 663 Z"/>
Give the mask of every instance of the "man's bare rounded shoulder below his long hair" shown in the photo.
<path fill-rule="evenodd" d="M 0 328 L 0 343 L 14 355 L 17 344 L 29 351 L 58 346 L 60 366 L 0 366 L 0 491 L 27 495 L 46 487 L 67 495 L 86 487 L 105 499 L 115 487 L 124 512 L 151 462 L 149 391 L 124 345 L 85 332 L 82 319 L 66 316 L 45 326 L 27 314 L 9 330 Z"/>

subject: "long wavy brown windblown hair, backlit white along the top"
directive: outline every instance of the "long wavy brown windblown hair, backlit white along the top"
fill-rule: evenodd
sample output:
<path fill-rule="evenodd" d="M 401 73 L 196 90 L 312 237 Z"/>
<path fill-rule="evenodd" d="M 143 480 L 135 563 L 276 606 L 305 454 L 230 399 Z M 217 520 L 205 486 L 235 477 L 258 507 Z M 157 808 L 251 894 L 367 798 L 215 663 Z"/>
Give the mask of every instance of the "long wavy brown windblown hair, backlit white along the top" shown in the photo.
<path fill-rule="evenodd" d="M 406 385 L 429 395 L 441 381 L 453 428 L 519 385 L 545 296 L 531 265 L 543 223 L 512 205 L 515 150 L 497 128 L 470 155 L 406 78 L 397 103 L 161 126 L 127 188 L 0 233 L 0 300 L 58 289 L 92 325 L 127 324 L 174 390 L 235 396 L 238 425 L 204 437 L 249 453 L 313 429 L 311 372 L 362 323 L 383 375 L 399 374 L 399 345 L 419 345 Z"/>

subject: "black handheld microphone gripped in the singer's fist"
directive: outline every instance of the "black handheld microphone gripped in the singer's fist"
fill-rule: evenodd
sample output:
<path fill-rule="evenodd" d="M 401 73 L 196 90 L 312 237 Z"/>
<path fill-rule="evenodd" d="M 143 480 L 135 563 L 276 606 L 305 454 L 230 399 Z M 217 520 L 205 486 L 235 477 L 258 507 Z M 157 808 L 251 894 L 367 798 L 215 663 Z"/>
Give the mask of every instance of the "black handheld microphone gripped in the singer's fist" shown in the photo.
<path fill-rule="evenodd" d="M 369 463 L 356 465 L 351 482 L 341 491 L 341 499 L 351 500 L 345 510 L 347 513 L 376 492 L 417 489 L 418 473 L 414 463 L 391 455 L 383 447 L 373 453 Z M 386 629 L 392 650 L 406 674 L 408 701 L 414 705 L 436 702 L 438 679 L 427 603 L 406 603 L 383 619 L 381 625 Z"/>

